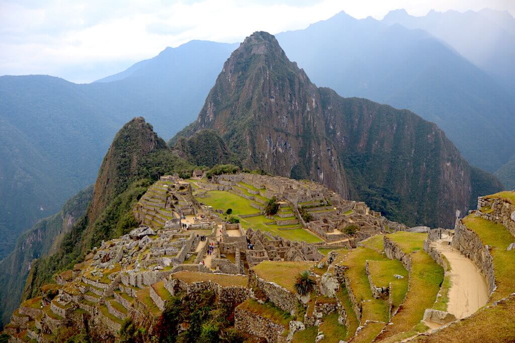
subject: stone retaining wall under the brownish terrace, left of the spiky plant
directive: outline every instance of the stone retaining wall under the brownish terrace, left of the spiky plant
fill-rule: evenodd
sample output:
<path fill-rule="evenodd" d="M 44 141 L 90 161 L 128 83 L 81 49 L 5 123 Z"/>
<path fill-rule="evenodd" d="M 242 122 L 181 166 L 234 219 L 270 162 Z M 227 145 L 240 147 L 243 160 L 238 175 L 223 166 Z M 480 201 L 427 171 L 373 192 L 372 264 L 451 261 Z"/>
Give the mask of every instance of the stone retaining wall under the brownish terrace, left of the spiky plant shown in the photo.
<path fill-rule="evenodd" d="M 261 279 L 251 269 L 249 270 L 249 286 L 259 288 L 266 294 L 268 300 L 281 310 L 287 311 L 292 315 L 297 311 L 299 303 L 297 295 L 294 295 L 277 283 Z"/>

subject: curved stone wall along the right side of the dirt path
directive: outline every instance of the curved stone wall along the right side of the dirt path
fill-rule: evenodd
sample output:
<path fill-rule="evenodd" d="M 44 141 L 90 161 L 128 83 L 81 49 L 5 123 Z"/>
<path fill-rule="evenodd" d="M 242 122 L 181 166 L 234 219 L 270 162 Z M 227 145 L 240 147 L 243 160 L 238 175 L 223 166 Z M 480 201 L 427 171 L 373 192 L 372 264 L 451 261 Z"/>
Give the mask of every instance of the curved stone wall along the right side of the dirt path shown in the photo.
<path fill-rule="evenodd" d="M 493 257 L 490 254 L 489 248 L 483 245 L 477 234 L 469 230 L 461 220 L 456 221 L 451 245 L 475 263 L 481 274 L 485 277 L 488 290 L 492 294 L 495 291 L 495 277 Z"/>

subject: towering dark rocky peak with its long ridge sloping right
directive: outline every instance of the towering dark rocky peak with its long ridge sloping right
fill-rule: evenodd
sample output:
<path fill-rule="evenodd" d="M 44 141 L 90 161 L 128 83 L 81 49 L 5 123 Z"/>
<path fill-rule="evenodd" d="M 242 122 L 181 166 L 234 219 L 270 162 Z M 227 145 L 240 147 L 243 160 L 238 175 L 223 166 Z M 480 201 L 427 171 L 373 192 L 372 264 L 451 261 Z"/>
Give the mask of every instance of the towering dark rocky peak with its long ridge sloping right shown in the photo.
<path fill-rule="evenodd" d="M 316 87 L 266 32 L 232 53 L 179 135 L 204 129 L 244 167 L 315 180 L 407 224 L 451 226 L 473 191 L 469 164 L 435 124 Z"/>

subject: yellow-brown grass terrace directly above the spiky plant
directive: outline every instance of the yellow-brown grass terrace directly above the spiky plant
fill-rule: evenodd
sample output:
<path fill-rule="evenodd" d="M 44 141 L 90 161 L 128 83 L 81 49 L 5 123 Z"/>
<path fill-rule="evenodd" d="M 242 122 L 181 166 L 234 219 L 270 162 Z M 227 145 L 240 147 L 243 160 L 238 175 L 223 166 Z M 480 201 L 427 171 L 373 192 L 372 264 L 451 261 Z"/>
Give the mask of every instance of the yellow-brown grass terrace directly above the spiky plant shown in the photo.
<path fill-rule="evenodd" d="M 252 267 L 252 270 L 262 279 L 275 282 L 291 293 L 297 294 L 294 288 L 295 278 L 304 270 L 310 269 L 315 262 L 281 262 L 263 261 Z"/>

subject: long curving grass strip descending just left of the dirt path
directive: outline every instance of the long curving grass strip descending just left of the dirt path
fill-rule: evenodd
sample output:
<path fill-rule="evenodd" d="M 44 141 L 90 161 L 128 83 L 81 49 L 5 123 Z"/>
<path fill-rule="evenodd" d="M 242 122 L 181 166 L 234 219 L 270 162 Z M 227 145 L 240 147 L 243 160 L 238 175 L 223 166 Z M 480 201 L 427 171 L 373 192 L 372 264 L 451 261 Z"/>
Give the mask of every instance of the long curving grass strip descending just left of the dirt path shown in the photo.
<path fill-rule="evenodd" d="M 380 338 L 386 338 L 409 331 L 424 316 L 425 309 L 430 309 L 436 300 L 443 281 L 443 268 L 424 250 L 411 255 L 411 272 L 409 290 L 401 310 L 393 316 Z"/>

